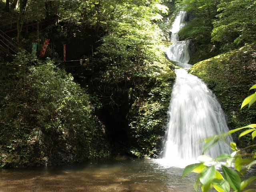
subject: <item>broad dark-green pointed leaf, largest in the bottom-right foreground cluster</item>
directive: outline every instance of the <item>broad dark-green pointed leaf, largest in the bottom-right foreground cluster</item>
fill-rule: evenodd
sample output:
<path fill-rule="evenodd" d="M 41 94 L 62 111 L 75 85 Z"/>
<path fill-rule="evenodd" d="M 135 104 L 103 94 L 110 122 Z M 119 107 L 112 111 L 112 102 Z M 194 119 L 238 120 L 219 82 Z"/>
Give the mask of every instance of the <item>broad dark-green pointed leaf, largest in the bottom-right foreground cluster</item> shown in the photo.
<path fill-rule="evenodd" d="M 223 165 L 221 167 L 222 167 L 224 176 L 228 181 L 228 183 L 230 184 L 230 186 L 234 190 L 240 190 L 240 184 L 241 184 L 240 176 L 234 170 L 232 170 L 232 168 L 229 168 Z"/>

